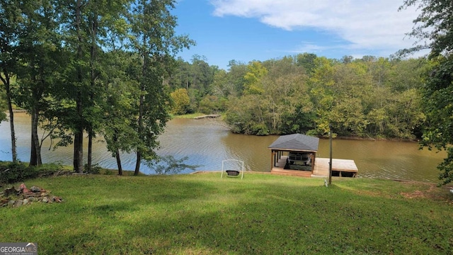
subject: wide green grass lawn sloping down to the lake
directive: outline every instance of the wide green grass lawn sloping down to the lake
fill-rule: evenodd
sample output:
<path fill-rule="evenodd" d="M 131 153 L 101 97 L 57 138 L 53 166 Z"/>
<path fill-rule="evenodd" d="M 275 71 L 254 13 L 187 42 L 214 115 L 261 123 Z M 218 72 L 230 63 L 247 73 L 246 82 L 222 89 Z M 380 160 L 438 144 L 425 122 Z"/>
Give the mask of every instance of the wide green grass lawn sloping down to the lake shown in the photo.
<path fill-rule="evenodd" d="M 219 173 L 27 181 L 64 198 L 0 208 L 0 242 L 40 254 L 451 254 L 453 200 L 430 183 Z M 16 184 L 17 186 L 17 184 Z"/>

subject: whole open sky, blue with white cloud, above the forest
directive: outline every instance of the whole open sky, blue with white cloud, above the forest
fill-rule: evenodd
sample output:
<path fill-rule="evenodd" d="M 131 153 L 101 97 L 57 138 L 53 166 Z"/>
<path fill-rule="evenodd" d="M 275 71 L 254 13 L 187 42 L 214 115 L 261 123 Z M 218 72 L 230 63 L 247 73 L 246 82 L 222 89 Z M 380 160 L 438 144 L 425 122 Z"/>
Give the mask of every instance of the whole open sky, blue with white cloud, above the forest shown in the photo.
<path fill-rule="evenodd" d="M 179 0 L 173 14 L 178 34 L 197 42 L 178 56 L 193 55 L 228 69 L 230 60 L 248 63 L 309 52 L 389 57 L 413 45 L 408 33 L 415 8 L 398 11 L 402 0 Z"/>

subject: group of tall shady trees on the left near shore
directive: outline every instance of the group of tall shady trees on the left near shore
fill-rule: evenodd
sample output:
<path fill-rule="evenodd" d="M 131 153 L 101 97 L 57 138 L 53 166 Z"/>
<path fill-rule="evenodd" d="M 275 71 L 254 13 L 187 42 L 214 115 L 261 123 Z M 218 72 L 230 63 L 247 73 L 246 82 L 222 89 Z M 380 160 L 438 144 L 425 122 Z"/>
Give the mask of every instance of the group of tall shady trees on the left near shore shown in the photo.
<path fill-rule="evenodd" d="M 103 135 L 122 174 L 120 152 L 154 159 L 169 118 L 164 79 L 193 45 L 176 35 L 176 0 L 0 0 L 0 80 L 17 160 L 13 104 L 31 115 L 30 165 L 42 164 L 38 126 L 55 147 L 74 145 L 74 171 L 88 171 Z M 2 111 L 3 114 L 3 111 Z M 5 115 L 0 117 L 5 118 Z"/>

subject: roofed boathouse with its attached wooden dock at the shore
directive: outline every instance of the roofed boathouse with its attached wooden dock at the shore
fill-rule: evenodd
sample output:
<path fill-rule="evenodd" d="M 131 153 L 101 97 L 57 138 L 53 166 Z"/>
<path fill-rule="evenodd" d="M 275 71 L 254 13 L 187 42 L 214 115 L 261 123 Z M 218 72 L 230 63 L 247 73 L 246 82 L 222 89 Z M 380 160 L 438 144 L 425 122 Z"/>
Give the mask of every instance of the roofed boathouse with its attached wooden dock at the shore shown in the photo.
<path fill-rule="evenodd" d="M 272 174 L 328 177 L 330 159 L 316 158 L 319 138 L 302 134 L 282 135 L 271 150 Z M 351 159 L 332 159 L 332 176 L 356 177 L 357 166 Z"/>

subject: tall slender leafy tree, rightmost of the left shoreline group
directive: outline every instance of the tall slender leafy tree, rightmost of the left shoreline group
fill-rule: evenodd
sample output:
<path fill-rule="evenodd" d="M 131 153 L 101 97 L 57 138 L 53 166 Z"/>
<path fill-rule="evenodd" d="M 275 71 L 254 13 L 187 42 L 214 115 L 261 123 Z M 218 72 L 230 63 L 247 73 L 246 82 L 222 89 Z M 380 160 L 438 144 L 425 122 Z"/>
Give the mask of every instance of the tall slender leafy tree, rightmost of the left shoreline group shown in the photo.
<path fill-rule="evenodd" d="M 142 72 L 137 77 L 137 133 L 142 144 L 136 147 L 138 175 L 142 159 L 152 160 L 159 146 L 157 137 L 164 131 L 169 118 L 168 93 L 163 81 L 174 55 L 194 42 L 186 35 L 175 35 L 176 17 L 171 14 L 175 0 L 137 0 L 130 8 L 132 49 L 142 57 Z"/>

